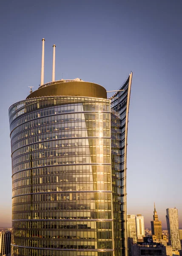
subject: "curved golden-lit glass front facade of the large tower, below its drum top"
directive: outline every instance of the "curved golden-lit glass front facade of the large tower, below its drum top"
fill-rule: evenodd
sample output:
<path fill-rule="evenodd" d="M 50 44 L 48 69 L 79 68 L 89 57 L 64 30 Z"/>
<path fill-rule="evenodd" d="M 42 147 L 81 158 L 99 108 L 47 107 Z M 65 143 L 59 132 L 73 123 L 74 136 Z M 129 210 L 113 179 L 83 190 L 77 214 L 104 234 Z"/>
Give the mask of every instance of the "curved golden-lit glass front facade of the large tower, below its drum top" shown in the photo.
<path fill-rule="evenodd" d="M 112 255 L 109 100 L 27 99 L 9 116 L 13 255 Z"/>

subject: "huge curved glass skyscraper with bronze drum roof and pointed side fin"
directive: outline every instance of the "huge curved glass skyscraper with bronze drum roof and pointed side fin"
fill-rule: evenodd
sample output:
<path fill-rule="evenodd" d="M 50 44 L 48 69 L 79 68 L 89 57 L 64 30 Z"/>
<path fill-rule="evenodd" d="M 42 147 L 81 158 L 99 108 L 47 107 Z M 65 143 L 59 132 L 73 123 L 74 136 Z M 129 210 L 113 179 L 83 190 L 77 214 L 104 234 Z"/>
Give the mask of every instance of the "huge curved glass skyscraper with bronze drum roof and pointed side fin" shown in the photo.
<path fill-rule="evenodd" d="M 127 254 L 131 81 L 110 99 L 99 84 L 54 81 L 9 108 L 12 256 Z"/>

